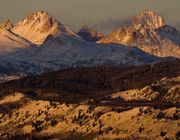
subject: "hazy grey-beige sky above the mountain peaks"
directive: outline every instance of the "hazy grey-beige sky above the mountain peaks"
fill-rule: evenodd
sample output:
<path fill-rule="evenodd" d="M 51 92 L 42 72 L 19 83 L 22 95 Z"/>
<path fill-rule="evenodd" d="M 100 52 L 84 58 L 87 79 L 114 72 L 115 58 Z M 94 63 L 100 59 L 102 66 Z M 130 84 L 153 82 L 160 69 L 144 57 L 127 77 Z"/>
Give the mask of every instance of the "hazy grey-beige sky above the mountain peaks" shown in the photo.
<path fill-rule="evenodd" d="M 75 31 L 85 24 L 105 31 L 145 9 L 180 30 L 180 0 L 0 0 L 0 21 L 8 18 L 16 23 L 43 10 Z"/>

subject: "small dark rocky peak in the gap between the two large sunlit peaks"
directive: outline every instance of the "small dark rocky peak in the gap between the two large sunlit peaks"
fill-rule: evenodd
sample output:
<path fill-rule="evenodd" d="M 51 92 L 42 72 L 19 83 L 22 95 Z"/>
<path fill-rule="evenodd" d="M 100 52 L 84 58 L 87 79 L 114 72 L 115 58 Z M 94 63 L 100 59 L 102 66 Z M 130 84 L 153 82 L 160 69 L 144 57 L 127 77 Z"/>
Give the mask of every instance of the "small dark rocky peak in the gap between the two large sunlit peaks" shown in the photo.
<path fill-rule="evenodd" d="M 79 30 L 78 35 L 81 36 L 86 41 L 90 41 L 90 42 L 99 41 L 104 37 L 103 33 L 98 32 L 97 30 L 90 28 L 87 25 L 83 26 Z"/>

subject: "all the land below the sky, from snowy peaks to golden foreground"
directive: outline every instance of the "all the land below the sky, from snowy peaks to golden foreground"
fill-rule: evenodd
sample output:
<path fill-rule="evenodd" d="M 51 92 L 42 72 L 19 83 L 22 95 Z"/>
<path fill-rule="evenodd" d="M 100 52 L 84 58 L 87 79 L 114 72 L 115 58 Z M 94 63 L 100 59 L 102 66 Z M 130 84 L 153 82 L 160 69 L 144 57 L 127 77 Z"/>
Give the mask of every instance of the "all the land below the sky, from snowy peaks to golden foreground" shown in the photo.
<path fill-rule="evenodd" d="M 179 139 L 180 32 L 150 10 L 129 21 L 1 23 L 0 139 Z"/>

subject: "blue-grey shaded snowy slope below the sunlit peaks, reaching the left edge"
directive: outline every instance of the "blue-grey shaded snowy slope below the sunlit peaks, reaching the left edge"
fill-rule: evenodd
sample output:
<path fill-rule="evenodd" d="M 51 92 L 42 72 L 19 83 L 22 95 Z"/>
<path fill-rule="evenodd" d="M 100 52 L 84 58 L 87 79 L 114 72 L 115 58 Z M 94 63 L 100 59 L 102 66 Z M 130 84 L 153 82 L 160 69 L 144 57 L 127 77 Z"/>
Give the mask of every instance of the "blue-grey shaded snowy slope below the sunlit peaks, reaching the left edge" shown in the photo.
<path fill-rule="evenodd" d="M 16 59 L 2 59 L 0 66 L 21 77 L 72 67 L 135 66 L 162 60 L 136 47 L 101 45 L 64 34 L 49 35 L 40 47 L 21 54 Z"/>

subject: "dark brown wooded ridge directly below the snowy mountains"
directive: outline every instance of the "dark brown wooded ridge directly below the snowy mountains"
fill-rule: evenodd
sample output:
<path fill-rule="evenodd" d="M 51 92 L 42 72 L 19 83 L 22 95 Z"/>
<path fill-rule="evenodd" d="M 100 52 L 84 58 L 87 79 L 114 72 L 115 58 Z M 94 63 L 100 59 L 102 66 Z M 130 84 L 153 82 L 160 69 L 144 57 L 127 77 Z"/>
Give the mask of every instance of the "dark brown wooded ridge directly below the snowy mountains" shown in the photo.
<path fill-rule="evenodd" d="M 0 96 L 12 92 L 41 91 L 76 95 L 101 95 L 142 88 L 163 77 L 180 75 L 180 61 L 137 67 L 74 68 L 0 84 Z"/>

